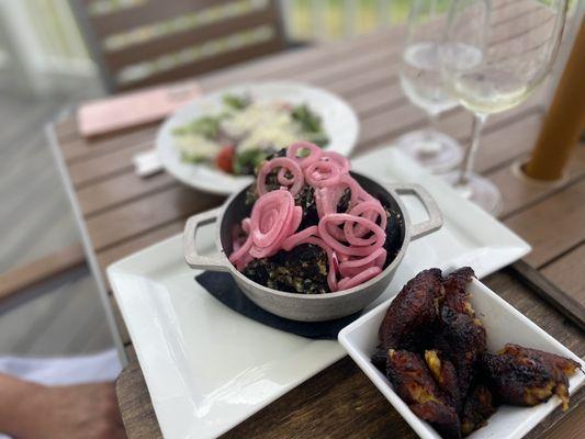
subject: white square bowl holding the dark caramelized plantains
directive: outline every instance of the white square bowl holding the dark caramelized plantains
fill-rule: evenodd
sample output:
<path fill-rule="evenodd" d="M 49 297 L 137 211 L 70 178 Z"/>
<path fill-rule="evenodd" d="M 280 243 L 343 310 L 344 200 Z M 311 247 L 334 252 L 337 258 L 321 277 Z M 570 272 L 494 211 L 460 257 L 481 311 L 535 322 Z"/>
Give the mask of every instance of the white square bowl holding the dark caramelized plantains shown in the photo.
<path fill-rule="evenodd" d="M 487 349 L 499 350 L 505 344 L 511 342 L 527 348 L 541 349 L 578 361 L 577 356 L 526 318 L 515 307 L 495 294 L 482 282 L 473 280 L 468 286 L 471 303 L 482 319 L 487 333 Z M 370 362 L 370 357 L 379 344 L 378 329 L 393 299 L 382 303 L 339 333 L 339 341 L 361 370 L 372 380 L 375 386 L 404 417 L 421 438 L 440 439 L 437 431 L 426 421 L 416 416 L 406 403 L 394 392 L 392 384 Z M 585 381 L 583 373 L 577 372 L 570 380 L 569 391 L 573 394 Z M 488 419 L 487 426 L 474 431 L 471 439 L 521 438 L 547 417 L 561 399 L 553 396 L 544 404 L 535 407 L 516 407 L 504 405 Z"/>

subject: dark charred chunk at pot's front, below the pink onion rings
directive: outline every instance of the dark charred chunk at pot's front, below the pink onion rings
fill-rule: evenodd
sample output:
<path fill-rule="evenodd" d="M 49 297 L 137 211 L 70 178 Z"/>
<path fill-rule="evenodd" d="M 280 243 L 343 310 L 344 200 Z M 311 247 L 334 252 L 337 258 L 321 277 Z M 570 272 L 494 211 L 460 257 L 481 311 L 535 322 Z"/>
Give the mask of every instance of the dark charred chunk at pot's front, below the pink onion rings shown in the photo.
<path fill-rule="evenodd" d="M 280 291 L 304 294 L 329 293 L 327 254 L 318 246 L 302 244 L 270 258 L 254 259 L 241 272 L 252 281 Z"/>

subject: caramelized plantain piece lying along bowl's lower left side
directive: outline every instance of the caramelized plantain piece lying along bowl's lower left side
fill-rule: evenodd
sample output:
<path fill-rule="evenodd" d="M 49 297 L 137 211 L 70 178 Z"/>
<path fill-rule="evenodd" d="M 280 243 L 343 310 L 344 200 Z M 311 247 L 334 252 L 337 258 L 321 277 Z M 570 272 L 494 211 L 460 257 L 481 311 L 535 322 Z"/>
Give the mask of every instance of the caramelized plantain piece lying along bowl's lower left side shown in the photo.
<path fill-rule="evenodd" d="M 460 438 L 459 416 L 432 380 L 421 358 L 406 350 L 389 351 L 387 378 L 396 393 L 445 438 Z"/>

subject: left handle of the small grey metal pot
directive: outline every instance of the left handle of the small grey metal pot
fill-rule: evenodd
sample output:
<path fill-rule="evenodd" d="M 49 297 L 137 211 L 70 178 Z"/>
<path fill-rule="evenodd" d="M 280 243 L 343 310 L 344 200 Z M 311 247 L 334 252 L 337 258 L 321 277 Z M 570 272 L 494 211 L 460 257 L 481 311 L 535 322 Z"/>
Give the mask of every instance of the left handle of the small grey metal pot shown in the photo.
<path fill-rule="evenodd" d="M 184 260 L 191 268 L 211 271 L 228 271 L 225 260 L 218 256 L 201 256 L 195 248 L 198 228 L 217 221 L 221 207 L 202 212 L 187 219 L 183 233 Z"/>

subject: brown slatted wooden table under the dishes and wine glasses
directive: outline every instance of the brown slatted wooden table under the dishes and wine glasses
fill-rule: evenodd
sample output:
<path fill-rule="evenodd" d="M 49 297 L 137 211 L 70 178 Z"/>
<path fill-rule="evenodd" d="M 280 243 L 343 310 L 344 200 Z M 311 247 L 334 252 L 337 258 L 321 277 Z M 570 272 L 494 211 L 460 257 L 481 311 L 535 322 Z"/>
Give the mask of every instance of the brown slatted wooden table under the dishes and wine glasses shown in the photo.
<path fill-rule="evenodd" d="M 509 3 L 510 20 L 526 10 Z M 528 11 L 529 13 L 529 11 Z M 324 87 L 346 99 L 361 123 L 357 153 L 387 144 L 402 133 L 427 123 L 425 114 L 404 97 L 397 68 L 398 30 L 376 33 L 341 44 L 285 53 L 199 78 L 204 91 L 238 81 L 300 80 Z M 585 145 L 578 145 L 569 179 L 558 187 L 535 187 L 513 177 L 510 165 L 524 157 L 538 134 L 543 91 L 524 105 L 493 116 L 486 125 L 476 169 L 504 194 L 500 219 L 532 246 L 526 267 L 539 282 L 549 280 L 558 302 L 583 313 L 585 304 Z M 470 136 L 471 116 L 461 109 L 443 115 L 440 128 L 461 142 Z M 104 296 L 112 301 L 114 318 L 130 364 L 117 382 L 128 437 L 157 438 L 147 389 L 132 340 L 108 295 L 105 268 L 116 259 L 180 232 L 184 219 L 218 205 L 222 198 L 195 192 L 166 173 L 148 179 L 135 176 L 132 157 L 153 147 L 156 125 L 87 140 L 75 117 L 57 122 L 52 132 L 66 177 L 87 256 Z M 526 268 L 524 267 L 524 268 Z M 522 266 L 517 266 L 522 269 Z M 522 269 L 524 270 L 524 269 Z M 540 274 L 544 278 L 541 278 Z M 492 274 L 486 282 L 525 315 L 583 357 L 585 337 L 566 317 L 547 304 L 532 286 L 518 281 L 516 269 Z M 577 437 L 585 428 L 583 393 L 573 398 L 572 412 L 543 437 Z M 540 435 L 560 416 L 540 426 Z M 407 424 L 379 394 L 351 360 L 345 358 L 246 420 L 226 437 L 415 437 Z"/>

